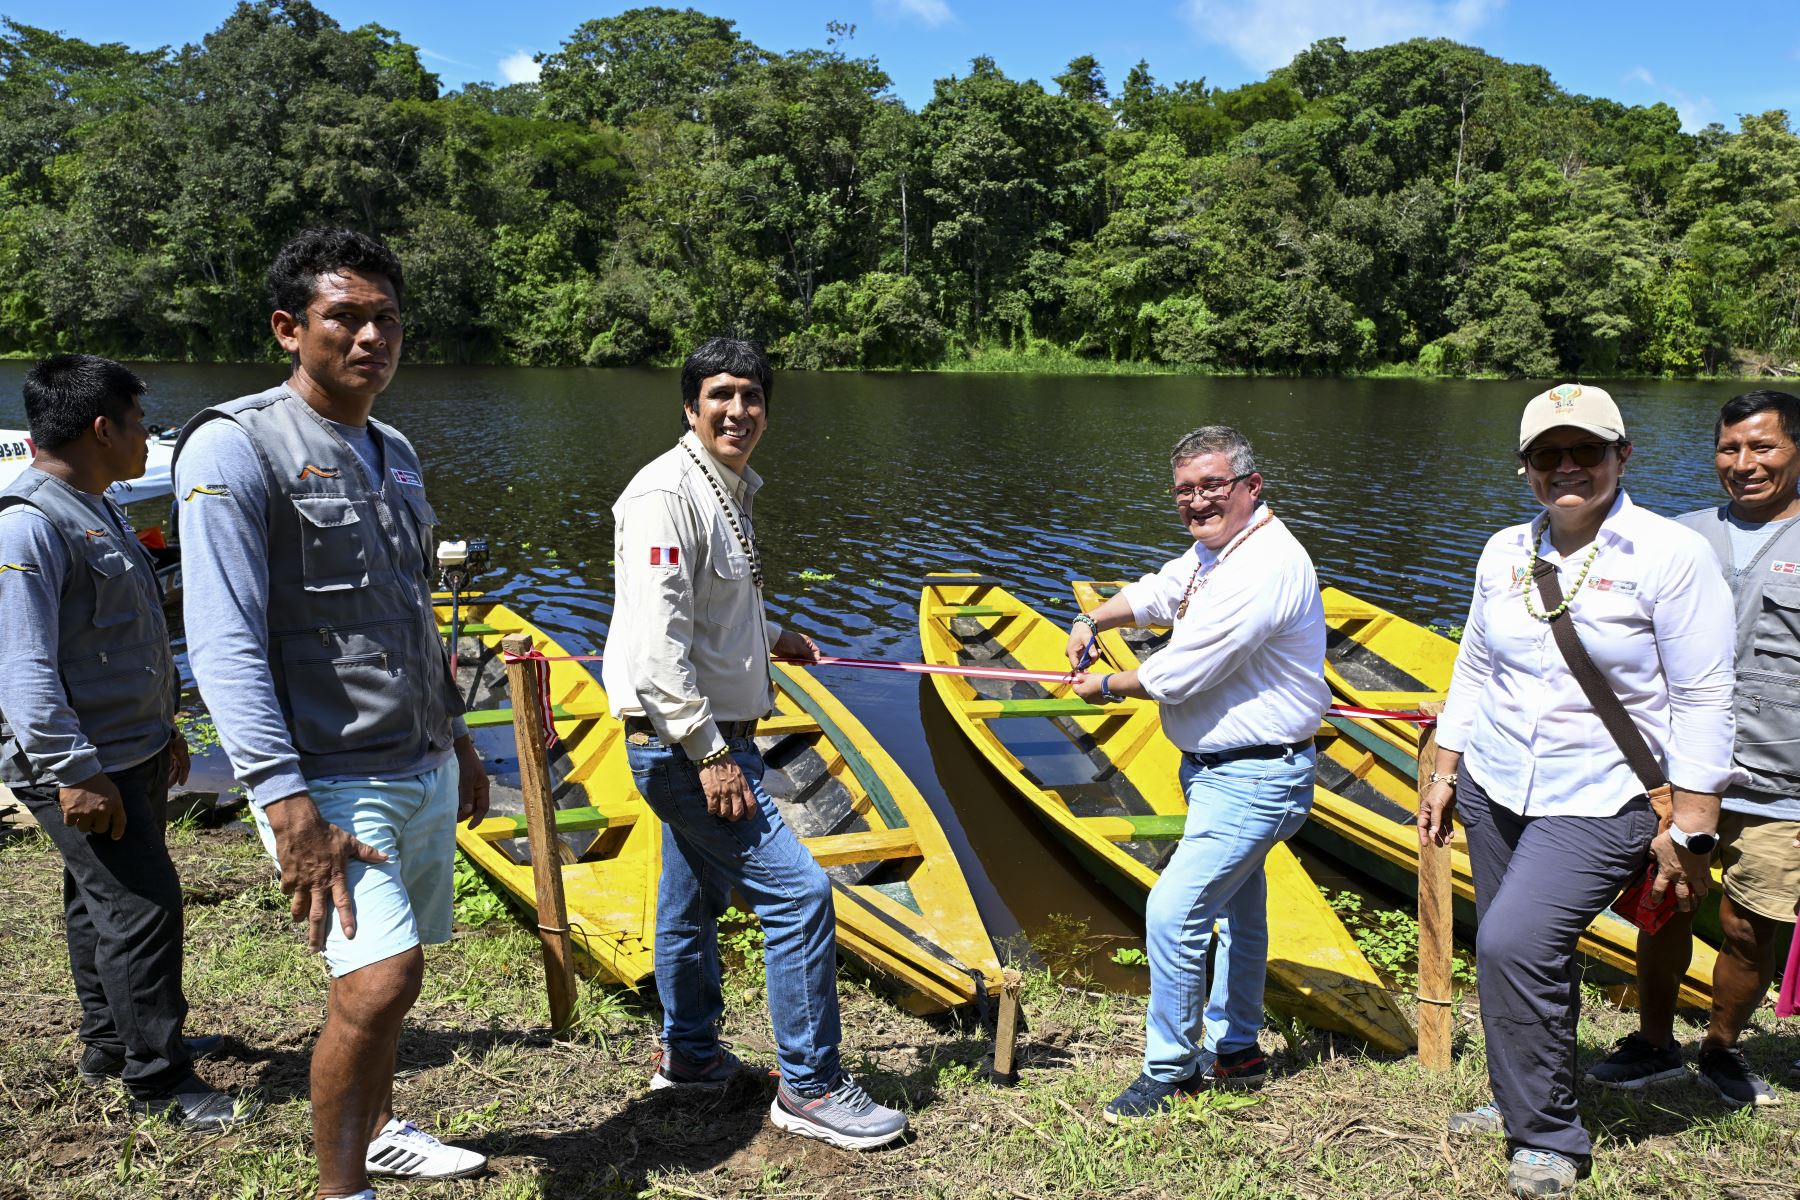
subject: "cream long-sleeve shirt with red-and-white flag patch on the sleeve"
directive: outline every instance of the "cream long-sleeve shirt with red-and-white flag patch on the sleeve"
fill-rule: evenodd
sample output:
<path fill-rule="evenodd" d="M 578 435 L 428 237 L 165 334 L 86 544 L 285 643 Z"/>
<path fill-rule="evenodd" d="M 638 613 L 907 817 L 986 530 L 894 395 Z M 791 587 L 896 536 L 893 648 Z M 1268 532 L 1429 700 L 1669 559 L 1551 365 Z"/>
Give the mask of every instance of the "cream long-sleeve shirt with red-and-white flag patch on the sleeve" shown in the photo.
<path fill-rule="evenodd" d="M 707 475 L 749 513 L 761 477 L 718 462 L 691 432 L 652 459 L 612 506 L 612 624 L 601 684 L 614 716 L 646 716 L 691 759 L 724 748 L 718 721 L 774 707 L 769 651 L 781 628 L 763 615 L 751 560 Z"/>

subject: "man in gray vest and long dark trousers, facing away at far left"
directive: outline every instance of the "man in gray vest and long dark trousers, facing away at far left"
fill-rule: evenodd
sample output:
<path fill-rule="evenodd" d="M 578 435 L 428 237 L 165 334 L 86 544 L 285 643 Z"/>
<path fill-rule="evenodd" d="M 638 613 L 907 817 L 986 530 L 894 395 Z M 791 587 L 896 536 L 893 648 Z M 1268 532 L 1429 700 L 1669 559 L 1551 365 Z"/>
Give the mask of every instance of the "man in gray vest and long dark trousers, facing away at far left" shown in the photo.
<path fill-rule="evenodd" d="M 164 824 L 187 781 L 180 676 L 155 567 L 106 489 L 144 473 L 144 383 L 58 354 L 25 376 L 32 464 L 0 491 L 0 781 L 63 856 L 83 1079 L 124 1079 L 133 1112 L 189 1128 L 248 1119 L 182 1038 L 182 882 Z"/>

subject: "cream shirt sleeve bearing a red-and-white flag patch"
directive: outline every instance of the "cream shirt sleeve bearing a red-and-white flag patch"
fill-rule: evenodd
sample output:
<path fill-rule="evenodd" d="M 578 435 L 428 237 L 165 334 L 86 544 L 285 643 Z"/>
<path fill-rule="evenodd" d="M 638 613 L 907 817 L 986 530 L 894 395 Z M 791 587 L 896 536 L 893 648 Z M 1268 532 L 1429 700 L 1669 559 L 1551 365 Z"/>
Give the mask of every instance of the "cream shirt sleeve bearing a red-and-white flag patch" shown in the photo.
<path fill-rule="evenodd" d="M 725 748 L 711 702 L 700 694 L 689 658 L 695 613 L 697 531 L 675 493 L 646 491 L 621 500 L 616 610 L 628 624 L 608 635 L 607 653 L 623 655 L 632 689 L 657 736 L 680 743 L 698 761 Z M 657 563 L 650 551 L 657 547 Z M 666 547 L 675 547 L 670 561 Z"/>

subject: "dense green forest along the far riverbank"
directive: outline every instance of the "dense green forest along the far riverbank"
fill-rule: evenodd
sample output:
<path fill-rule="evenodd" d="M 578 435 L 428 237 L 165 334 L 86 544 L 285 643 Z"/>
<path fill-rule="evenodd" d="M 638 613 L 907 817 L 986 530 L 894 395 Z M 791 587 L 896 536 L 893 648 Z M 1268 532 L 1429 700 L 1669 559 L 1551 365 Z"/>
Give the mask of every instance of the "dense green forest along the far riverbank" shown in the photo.
<path fill-rule="evenodd" d="M 297 228 L 385 236 L 414 358 L 790 367 L 1012 349 L 1219 371 L 1730 371 L 1800 354 L 1800 139 L 1571 95 L 1453 41 L 1267 79 L 900 103 L 853 27 L 592 20 L 445 94 L 401 34 L 257 0 L 133 52 L 0 22 L 0 351 L 245 360 Z M 864 54 L 864 50 L 869 50 Z"/>

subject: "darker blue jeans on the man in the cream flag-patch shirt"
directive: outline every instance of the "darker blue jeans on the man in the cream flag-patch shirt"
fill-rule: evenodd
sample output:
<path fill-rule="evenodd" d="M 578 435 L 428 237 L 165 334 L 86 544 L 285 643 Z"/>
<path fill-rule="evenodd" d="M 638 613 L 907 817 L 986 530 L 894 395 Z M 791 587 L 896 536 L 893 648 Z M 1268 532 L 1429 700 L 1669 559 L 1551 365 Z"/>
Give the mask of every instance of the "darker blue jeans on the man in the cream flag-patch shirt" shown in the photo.
<path fill-rule="evenodd" d="M 763 923 L 769 1022 L 781 1081 L 801 1096 L 837 1085 L 837 916 L 832 880 L 781 820 L 763 790 L 763 756 L 733 738 L 756 811 L 722 820 L 706 811 L 700 772 L 680 747 L 626 745 L 632 779 L 662 819 L 657 889 L 657 995 L 662 1043 L 682 1058 L 718 1052 L 725 1000 L 718 973 L 718 916 L 738 889 Z"/>

